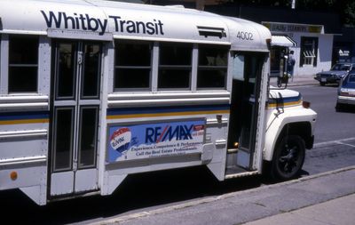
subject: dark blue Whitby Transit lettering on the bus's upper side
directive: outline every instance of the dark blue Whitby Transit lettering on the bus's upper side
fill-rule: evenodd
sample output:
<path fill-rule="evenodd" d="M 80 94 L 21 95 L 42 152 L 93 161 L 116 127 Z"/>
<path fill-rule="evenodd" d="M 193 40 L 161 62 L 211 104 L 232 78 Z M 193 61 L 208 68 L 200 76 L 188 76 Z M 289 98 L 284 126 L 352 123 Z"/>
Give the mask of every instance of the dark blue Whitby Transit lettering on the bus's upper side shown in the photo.
<path fill-rule="evenodd" d="M 102 36 L 107 30 L 107 19 L 99 19 L 91 17 L 88 13 L 78 14 L 74 12 L 72 15 L 67 15 L 66 12 L 44 12 L 41 11 L 47 28 L 66 28 L 76 30 L 88 30 L 99 32 Z M 161 20 L 151 21 L 134 21 L 123 20 L 120 16 L 109 15 L 109 20 L 114 22 L 115 32 L 127 32 L 130 34 L 148 34 L 148 35 L 164 35 L 162 30 L 163 23 Z"/>

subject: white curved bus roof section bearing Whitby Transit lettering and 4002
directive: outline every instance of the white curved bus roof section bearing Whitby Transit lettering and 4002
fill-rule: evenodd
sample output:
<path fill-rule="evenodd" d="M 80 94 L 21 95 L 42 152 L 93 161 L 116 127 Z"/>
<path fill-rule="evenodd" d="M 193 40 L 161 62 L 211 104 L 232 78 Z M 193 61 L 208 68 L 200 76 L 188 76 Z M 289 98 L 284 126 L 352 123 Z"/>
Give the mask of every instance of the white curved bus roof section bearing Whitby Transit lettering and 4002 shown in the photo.
<path fill-rule="evenodd" d="M 270 31 L 255 22 L 180 6 L 99 0 L 0 0 L 0 33 L 231 44 L 267 52 Z"/>

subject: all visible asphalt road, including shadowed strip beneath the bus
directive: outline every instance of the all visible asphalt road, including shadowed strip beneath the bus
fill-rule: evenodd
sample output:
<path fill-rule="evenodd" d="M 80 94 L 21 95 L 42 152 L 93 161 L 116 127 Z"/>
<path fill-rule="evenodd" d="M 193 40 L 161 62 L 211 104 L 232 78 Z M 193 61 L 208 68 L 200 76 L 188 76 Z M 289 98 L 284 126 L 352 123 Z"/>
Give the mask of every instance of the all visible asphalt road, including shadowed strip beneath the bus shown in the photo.
<path fill-rule="evenodd" d="M 354 165 L 355 110 L 335 112 L 336 87 L 293 87 L 318 112 L 314 149 L 307 151 L 302 176 Z M 85 197 L 35 205 L 18 190 L 0 192 L 3 221 L 29 224 L 84 224 L 185 201 L 217 197 L 268 185 L 261 176 L 217 181 L 204 167 L 132 175 L 109 197 Z M 18 216 L 10 216 L 17 213 Z M 4 223 L 5 224 L 5 223 Z"/>

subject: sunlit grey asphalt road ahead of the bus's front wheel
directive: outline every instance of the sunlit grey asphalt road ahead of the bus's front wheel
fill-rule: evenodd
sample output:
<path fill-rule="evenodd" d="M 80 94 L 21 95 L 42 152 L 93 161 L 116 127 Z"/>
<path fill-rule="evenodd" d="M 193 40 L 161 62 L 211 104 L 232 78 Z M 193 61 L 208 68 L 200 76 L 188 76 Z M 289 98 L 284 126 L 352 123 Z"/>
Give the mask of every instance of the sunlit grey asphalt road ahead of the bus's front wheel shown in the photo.
<path fill-rule="evenodd" d="M 355 162 L 355 108 L 335 111 L 336 85 L 292 87 L 318 113 L 315 145 L 307 151 L 304 175 L 323 173 Z"/>

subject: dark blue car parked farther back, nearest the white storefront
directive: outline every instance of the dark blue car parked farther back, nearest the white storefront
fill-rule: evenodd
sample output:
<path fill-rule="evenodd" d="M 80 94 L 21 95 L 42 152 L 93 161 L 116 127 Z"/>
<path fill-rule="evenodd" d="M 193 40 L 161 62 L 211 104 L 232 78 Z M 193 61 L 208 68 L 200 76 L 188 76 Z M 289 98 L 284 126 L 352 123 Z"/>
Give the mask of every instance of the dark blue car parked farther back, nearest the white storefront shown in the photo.
<path fill-rule="evenodd" d="M 346 76 L 351 69 L 355 69 L 355 63 L 336 63 L 329 71 L 318 73 L 314 79 L 319 81 L 319 84 L 340 84 L 340 81 Z"/>

